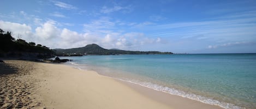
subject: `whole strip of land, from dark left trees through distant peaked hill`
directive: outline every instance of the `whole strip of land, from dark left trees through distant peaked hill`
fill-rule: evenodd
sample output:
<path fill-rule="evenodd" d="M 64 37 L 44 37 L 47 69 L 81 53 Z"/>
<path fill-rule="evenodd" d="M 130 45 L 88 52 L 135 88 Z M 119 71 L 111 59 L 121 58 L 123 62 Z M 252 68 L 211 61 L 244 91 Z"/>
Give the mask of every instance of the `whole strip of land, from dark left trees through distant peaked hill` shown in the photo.
<path fill-rule="evenodd" d="M 88 44 L 85 47 L 70 49 L 49 49 L 42 44 L 15 40 L 11 31 L 0 29 L 0 57 L 16 57 L 20 59 L 46 59 L 54 56 L 82 56 L 82 55 L 121 55 L 121 54 L 173 54 L 171 52 L 157 51 L 131 51 L 121 49 L 105 49 L 97 44 Z"/>

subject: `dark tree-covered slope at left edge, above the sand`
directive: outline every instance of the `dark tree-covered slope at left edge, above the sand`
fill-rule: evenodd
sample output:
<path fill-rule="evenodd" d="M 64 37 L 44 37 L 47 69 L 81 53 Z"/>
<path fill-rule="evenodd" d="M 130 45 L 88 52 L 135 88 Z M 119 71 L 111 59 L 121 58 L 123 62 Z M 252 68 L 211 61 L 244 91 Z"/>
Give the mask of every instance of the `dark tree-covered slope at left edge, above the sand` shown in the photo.
<path fill-rule="evenodd" d="M 41 44 L 15 40 L 11 31 L 0 29 L 0 57 L 47 58 L 55 55 L 53 50 Z"/>

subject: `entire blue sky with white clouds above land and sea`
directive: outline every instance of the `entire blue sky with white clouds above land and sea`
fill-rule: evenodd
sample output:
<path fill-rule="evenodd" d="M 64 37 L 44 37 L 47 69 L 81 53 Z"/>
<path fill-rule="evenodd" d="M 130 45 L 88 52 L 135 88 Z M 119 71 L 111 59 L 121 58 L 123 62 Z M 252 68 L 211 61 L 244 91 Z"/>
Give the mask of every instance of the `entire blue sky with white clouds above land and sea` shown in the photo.
<path fill-rule="evenodd" d="M 0 28 L 51 49 L 96 43 L 172 53 L 256 53 L 256 1 L 2 0 Z"/>

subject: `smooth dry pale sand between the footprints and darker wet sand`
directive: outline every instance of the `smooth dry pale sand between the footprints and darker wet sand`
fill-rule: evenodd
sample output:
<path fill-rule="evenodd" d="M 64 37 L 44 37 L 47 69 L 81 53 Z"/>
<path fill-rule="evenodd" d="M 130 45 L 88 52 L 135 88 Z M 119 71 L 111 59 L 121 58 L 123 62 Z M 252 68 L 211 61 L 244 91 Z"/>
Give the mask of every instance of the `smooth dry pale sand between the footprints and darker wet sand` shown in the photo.
<path fill-rule="evenodd" d="M 34 74 L 47 108 L 171 108 L 90 70 L 40 63 Z"/>

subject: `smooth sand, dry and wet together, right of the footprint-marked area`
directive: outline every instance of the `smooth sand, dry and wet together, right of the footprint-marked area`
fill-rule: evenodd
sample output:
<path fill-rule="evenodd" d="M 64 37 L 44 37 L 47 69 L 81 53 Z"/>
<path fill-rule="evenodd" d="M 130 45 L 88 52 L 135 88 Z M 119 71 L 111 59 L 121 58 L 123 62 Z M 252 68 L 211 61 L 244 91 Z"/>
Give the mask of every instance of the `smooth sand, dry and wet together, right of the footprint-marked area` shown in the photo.
<path fill-rule="evenodd" d="M 32 97 L 41 102 L 42 108 L 221 108 L 99 75 L 92 70 L 31 63 L 36 63 L 29 75 L 36 87 Z"/>

